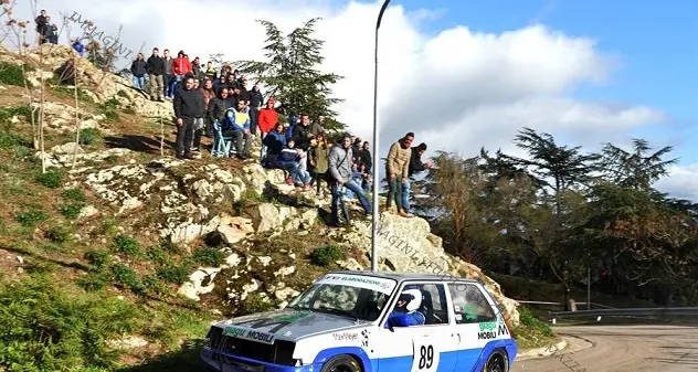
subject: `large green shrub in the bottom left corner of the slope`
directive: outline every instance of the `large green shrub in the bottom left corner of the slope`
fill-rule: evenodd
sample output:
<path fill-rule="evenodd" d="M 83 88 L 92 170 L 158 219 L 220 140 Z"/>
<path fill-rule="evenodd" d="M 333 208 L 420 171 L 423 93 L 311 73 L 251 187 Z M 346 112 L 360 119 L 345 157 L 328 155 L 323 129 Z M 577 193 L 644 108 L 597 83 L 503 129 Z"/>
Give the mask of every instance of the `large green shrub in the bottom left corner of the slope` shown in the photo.
<path fill-rule="evenodd" d="M 105 341 L 133 332 L 137 309 L 113 296 L 67 295 L 47 277 L 0 287 L 0 370 L 115 370 Z"/>

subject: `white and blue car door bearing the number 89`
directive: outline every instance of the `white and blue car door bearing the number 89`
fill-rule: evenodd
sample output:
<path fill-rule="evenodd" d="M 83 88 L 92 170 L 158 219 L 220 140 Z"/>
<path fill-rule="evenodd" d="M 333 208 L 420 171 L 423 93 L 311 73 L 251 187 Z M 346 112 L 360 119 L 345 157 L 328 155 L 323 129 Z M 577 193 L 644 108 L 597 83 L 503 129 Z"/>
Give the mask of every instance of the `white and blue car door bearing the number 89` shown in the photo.
<path fill-rule="evenodd" d="M 388 317 L 377 331 L 376 346 L 379 371 L 453 372 L 458 355 L 458 342 L 448 323 L 450 313 L 445 285 L 442 283 L 409 283 L 422 293 L 420 311 L 426 322 L 422 326 L 385 328 Z M 396 294 L 405 289 L 402 285 Z M 399 295 L 396 295 L 399 296 Z M 396 301 L 393 301 L 390 313 Z"/>

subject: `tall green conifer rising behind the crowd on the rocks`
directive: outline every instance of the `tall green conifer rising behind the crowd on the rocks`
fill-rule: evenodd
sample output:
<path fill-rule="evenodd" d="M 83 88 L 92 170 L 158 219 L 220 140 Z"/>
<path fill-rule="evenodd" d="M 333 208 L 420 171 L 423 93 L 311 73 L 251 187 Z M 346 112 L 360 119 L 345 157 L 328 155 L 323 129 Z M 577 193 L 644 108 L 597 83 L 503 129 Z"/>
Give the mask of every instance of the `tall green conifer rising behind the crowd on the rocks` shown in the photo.
<path fill-rule="evenodd" d="M 325 60 L 321 55 L 325 41 L 313 38 L 319 20 L 314 18 L 287 35 L 274 23 L 258 20 L 266 28 L 267 61 L 237 61 L 234 65 L 267 86 L 267 98 L 274 96 L 282 104 L 279 114 L 286 117 L 307 114 L 313 120 L 321 120 L 327 130 L 341 130 L 346 126 L 337 121 L 337 111 L 331 107 L 342 99 L 330 97 L 330 85 L 342 77 L 318 70 Z"/>

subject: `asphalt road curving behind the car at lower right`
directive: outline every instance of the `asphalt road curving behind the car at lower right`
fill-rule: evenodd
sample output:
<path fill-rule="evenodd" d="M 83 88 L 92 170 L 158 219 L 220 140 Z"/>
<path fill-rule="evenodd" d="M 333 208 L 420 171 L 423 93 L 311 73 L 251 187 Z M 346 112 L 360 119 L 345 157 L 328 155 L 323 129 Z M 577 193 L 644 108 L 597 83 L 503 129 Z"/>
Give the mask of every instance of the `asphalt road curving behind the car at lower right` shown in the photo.
<path fill-rule="evenodd" d="M 569 347 L 552 357 L 518 358 L 512 372 L 698 371 L 696 326 L 556 327 Z"/>

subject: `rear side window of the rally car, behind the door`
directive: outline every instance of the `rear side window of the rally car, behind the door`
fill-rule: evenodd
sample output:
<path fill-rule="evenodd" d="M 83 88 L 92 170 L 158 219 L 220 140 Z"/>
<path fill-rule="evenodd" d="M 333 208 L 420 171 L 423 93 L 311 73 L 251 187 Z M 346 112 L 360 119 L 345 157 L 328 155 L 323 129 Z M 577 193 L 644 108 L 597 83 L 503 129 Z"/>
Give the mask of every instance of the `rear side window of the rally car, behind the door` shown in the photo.
<path fill-rule="evenodd" d="M 496 321 L 497 316 L 480 289 L 469 283 L 450 284 L 456 323 L 479 323 Z"/>

